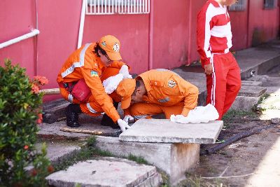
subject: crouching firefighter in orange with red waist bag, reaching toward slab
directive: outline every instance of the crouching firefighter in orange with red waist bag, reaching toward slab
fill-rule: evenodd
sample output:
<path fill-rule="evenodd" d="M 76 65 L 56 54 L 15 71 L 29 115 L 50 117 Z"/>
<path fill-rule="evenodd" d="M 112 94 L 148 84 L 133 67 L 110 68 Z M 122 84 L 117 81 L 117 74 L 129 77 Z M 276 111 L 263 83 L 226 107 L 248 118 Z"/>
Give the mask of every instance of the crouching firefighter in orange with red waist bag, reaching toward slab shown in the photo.
<path fill-rule="evenodd" d="M 62 97 L 71 102 L 66 107 L 66 125 L 79 127 L 78 114 L 87 113 L 99 116 L 105 112 L 114 123 L 118 123 L 122 131 L 130 126 L 120 119 L 118 111 L 113 106 L 111 97 L 106 94 L 100 76 L 112 62 L 121 68 L 125 65 L 120 56 L 120 41 L 115 36 L 103 36 L 97 43 L 87 43 L 74 51 L 57 76 L 57 83 Z M 86 101 L 79 101 L 71 94 L 71 88 L 80 79 L 84 79 L 91 95 Z"/>

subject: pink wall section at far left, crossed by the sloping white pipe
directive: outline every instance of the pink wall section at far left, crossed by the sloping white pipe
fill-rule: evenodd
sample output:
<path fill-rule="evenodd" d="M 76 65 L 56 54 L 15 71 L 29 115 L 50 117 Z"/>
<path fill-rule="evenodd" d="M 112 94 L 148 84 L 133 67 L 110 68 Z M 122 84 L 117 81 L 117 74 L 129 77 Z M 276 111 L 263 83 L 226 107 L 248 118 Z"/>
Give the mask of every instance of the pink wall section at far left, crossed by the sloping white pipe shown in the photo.
<path fill-rule="evenodd" d="M 0 1 L 0 8 L 0 43 L 27 34 L 31 28 L 36 28 L 34 1 L 18 0 L 16 6 L 11 1 Z M 33 76 L 36 71 L 35 43 L 36 38 L 31 38 L 0 49 L 0 65 L 4 59 L 10 58 L 27 68 L 27 74 Z"/>

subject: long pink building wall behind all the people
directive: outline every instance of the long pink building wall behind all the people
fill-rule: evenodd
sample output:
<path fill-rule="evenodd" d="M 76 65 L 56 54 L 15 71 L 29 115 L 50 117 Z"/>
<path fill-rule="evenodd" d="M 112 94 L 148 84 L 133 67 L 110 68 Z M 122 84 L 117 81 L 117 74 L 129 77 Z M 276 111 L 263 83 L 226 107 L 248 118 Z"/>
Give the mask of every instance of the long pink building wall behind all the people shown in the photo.
<path fill-rule="evenodd" d="M 199 60 L 196 19 L 205 1 L 151 0 L 150 14 L 86 15 L 83 44 L 98 41 L 106 34 L 117 36 L 123 60 L 137 74 L 149 68 L 180 67 Z M 77 47 L 81 4 L 81 0 L 18 0 L 16 4 L 0 1 L 0 43 L 36 28 L 36 10 L 40 31 L 38 36 L 0 49 L 0 64 L 9 57 L 26 67 L 29 76 L 46 76 L 50 83 L 44 88 L 57 88 L 57 73 Z M 279 6 L 264 10 L 262 4 L 263 0 L 248 0 L 245 11 L 230 11 L 232 50 L 278 35 Z M 54 98 L 57 97 L 45 97 Z"/>

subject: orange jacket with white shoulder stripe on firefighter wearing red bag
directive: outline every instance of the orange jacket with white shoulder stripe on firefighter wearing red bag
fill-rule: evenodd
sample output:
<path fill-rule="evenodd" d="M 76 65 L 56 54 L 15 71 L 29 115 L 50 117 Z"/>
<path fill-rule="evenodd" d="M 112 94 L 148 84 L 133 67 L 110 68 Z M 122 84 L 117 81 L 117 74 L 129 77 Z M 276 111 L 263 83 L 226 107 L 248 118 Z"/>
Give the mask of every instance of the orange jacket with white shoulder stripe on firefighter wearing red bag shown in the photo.
<path fill-rule="evenodd" d="M 120 116 L 100 80 L 100 76 L 102 76 L 102 72 L 106 67 L 104 67 L 100 58 L 93 53 L 95 45 L 96 43 L 87 43 L 74 51 L 59 71 L 57 83 L 71 83 L 84 78 L 97 104 L 116 122 Z M 124 63 L 114 62 L 114 64 L 118 64 L 120 68 Z"/>

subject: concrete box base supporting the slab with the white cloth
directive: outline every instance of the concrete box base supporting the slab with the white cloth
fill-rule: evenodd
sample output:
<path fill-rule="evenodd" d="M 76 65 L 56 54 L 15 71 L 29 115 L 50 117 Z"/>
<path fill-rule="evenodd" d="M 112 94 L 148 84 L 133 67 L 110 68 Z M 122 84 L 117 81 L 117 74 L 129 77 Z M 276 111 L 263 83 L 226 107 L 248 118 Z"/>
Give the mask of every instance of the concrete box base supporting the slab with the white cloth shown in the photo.
<path fill-rule="evenodd" d="M 194 169 L 200 161 L 200 144 L 125 142 L 117 137 L 97 136 L 95 146 L 120 157 L 130 154 L 142 157 L 168 174 L 172 184 L 184 179 L 185 173 Z"/>

